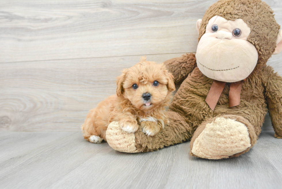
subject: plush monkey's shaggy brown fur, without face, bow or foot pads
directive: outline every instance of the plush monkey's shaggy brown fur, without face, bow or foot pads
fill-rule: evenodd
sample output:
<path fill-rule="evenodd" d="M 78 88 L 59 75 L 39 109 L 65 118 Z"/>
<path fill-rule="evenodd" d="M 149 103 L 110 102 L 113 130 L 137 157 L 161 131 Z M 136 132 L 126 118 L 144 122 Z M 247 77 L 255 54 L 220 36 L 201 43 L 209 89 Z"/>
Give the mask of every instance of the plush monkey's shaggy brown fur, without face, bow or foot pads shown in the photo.
<path fill-rule="evenodd" d="M 251 28 L 247 41 L 258 51 L 255 69 L 246 81 L 242 81 L 240 105 L 228 107 L 230 83 L 227 83 L 215 110 L 209 108 L 205 98 L 213 80 L 201 73 L 194 54 L 185 54 L 165 61 L 164 64 L 173 74 L 175 83 L 181 83 L 167 113 L 170 123 L 153 137 L 145 136 L 138 129 L 134 133 L 136 150 L 132 152 L 153 151 L 193 137 L 190 143 L 192 149 L 195 139 L 206 124 L 218 117 L 224 117 L 244 123 L 249 132 L 250 147 L 229 157 L 239 156 L 256 143 L 267 111 L 271 117 L 275 137 L 282 138 L 282 78 L 272 67 L 266 66 L 266 61 L 275 51 L 280 29 L 273 11 L 260 0 L 220 0 L 206 11 L 199 30 L 199 40 L 205 33 L 209 19 L 216 15 L 227 20 L 243 19 Z"/>

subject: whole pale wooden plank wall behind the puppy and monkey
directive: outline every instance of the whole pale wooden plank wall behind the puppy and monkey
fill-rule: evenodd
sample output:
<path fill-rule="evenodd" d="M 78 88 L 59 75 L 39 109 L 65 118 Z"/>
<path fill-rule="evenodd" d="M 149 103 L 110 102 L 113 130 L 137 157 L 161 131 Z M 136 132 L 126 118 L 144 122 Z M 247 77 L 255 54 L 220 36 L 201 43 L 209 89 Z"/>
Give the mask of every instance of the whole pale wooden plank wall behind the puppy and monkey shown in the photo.
<path fill-rule="evenodd" d="M 196 21 L 214 2 L 1 0 L 0 131 L 79 131 L 141 55 L 195 52 Z M 266 2 L 282 25 L 282 1 Z M 281 60 L 268 64 L 282 75 Z"/>

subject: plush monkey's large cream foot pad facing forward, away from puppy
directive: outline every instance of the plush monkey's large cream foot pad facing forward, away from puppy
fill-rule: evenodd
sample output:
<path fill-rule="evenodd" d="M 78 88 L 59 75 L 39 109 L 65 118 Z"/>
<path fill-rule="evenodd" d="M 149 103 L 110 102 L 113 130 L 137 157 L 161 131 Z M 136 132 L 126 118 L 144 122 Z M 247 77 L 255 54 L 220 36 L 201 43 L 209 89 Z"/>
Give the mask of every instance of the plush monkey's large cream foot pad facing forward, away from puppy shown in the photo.
<path fill-rule="evenodd" d="M 251 147 L 247 126 L 236 119 L 218 117 L 197 129 L 202 132 L 196 139 L 191 139 L 190 154 L 193 156 L 222 159 L 236 154 L 239 156 Z"/>

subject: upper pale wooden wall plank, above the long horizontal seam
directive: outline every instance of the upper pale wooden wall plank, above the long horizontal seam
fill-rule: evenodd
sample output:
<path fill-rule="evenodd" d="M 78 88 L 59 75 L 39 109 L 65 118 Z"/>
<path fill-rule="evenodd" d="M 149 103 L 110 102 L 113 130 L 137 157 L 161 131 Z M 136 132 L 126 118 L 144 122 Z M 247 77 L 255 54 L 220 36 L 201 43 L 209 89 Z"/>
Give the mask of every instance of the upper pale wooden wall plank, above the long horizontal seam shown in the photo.
<path fill-rule="evenodd" d="M 1 0 L 0 62 L 195 52 L 216 0 Z M 282 24 L 282 1 L 266 0 Z"/>

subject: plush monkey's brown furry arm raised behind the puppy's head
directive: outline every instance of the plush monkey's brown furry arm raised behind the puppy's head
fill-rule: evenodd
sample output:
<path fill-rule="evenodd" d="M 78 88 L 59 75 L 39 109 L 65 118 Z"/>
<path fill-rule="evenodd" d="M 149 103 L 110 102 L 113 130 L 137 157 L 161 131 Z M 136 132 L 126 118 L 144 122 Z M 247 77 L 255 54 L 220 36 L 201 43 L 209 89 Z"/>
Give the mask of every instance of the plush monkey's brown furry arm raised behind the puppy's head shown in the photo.
<path fill-rule="evenodd" d="M 178 58 L 164 62 L 168 71 L 174 76 L 174 83 L 180 84 L 190 72 L 197 66 L 196 57 L 193 53 L 186 53 Z"/>

